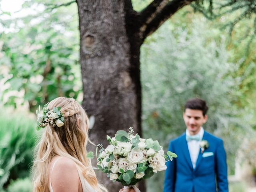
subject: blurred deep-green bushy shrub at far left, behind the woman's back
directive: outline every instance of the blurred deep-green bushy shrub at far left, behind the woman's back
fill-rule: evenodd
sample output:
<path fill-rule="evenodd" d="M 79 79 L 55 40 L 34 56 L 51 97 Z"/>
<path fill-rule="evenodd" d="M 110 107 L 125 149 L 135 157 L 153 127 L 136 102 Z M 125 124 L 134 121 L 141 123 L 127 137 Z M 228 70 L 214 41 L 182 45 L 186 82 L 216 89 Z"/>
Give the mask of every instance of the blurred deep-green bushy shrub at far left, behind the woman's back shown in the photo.
<path fill-rule="evenodd" d="M 0 190 L 10 180 L 30 174 L 36 122 L 31 114 L 2 108 L 0 112 Z"/>

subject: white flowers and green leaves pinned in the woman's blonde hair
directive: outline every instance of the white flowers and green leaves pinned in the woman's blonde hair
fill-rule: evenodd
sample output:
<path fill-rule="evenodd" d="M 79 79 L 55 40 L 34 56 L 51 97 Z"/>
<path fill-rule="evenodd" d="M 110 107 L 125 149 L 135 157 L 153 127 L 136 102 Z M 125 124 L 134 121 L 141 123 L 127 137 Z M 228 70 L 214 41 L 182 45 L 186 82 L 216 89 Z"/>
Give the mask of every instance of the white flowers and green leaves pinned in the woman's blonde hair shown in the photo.
<path fill-rule="evenodd" d="M 51 124 L 53 127 L 61 127 L 64 125 L 64 116 L 60 112 L 60 107 L 54 107 L 52 110 L 48 108 L 48 104 L 44 105 L 43 110 L 36 110 L 37 114 L 37 130 L 45 128 L 48 124 Z"/>

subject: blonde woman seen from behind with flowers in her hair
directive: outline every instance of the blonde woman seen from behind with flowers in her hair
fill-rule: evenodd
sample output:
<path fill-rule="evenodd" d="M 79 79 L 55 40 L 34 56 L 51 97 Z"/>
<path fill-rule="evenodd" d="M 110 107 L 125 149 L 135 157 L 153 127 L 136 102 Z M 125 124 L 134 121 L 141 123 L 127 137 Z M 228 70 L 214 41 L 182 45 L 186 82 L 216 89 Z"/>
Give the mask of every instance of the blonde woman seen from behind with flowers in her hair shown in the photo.
<path fill-rule="evenodd" d="M 72 98 L 59 97 L 48 108 L 38 115 L 44 132 L 35 149 L 33 192 L 107 192 L 86 158 L 89 120 L 82 106 Z M 63 118 L 58 119 L 60 112 Z"/>

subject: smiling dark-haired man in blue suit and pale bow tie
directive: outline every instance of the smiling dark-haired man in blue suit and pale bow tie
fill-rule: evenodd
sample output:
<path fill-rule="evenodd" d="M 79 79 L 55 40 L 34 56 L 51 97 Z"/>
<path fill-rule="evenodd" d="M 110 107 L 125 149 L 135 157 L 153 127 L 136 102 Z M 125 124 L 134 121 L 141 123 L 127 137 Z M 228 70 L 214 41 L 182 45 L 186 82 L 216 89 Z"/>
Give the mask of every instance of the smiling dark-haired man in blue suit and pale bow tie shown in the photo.
<path fill-rule="evenodd" d="M 204 131 L 208 107 L 204 100 L 186 102 L 186 132 L 170 142 L 178 155 L 167 162 L 164 192 L 228 192 L 226 152 L 220 138 Z M 216 185 L 217 182 L 217 185 Z"/>

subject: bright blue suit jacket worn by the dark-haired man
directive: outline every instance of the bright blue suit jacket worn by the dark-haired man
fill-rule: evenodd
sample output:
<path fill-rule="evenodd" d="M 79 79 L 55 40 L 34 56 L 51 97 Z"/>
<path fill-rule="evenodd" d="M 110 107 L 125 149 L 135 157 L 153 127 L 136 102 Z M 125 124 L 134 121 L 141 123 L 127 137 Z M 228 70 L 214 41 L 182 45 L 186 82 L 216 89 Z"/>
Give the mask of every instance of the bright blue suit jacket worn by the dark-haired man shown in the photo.
<path fill-rule="evenodd" d="M 209 147 L 204 153 L 210 156 L 205 154 L 203 157 L 199 152 L 195 169 L 190 159 L 186 134 L 170 142 L 169 150 L 178 157 L 167 162 L 164 192 L 216 192 L 216 181 L 218 192 L 228 192 L 226 152 L 223 142 L 206 131 L 203 140 L 209 142 Z"/>

